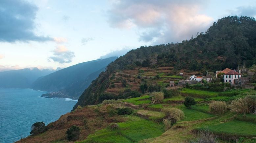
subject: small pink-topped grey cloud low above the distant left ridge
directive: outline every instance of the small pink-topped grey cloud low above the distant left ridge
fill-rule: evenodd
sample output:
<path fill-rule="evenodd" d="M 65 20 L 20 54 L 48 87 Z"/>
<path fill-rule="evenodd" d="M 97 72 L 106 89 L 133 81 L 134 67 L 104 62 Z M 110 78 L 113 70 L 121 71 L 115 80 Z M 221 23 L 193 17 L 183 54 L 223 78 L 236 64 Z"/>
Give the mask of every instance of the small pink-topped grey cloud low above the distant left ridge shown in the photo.
<path fill-rule="evenodd" d="M 65 46 L 56 46 L 53 51 L 53 56 L 48 58 L 48 61 L 58 62 L 60 64 L 72 62 L 75 57 L 74 52 L 69 51 Z"/>

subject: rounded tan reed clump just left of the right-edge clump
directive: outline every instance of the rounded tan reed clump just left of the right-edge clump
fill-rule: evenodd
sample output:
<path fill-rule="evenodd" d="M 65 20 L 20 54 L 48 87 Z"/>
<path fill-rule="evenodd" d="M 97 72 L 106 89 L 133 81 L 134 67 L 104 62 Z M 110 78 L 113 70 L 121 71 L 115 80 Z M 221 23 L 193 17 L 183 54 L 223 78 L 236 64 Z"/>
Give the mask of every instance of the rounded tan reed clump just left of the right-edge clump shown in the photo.
<path fill-rule="evenodd" d="M 209 109 L 212 113 L 221 115 L 227 111 L 227 103 L 224 101 L 213 101 L 209 104 Z"/>

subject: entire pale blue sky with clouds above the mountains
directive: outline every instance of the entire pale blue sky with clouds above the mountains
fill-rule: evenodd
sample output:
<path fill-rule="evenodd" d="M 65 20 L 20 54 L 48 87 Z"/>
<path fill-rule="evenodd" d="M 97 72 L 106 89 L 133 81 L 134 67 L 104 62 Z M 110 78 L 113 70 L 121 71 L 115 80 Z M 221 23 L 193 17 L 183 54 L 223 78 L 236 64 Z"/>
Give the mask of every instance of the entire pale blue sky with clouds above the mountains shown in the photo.
<path fill-rule="evenodd" d="M 0 72 L 65 68 L 181 42 L 255 0 L 0 0 Z"/>

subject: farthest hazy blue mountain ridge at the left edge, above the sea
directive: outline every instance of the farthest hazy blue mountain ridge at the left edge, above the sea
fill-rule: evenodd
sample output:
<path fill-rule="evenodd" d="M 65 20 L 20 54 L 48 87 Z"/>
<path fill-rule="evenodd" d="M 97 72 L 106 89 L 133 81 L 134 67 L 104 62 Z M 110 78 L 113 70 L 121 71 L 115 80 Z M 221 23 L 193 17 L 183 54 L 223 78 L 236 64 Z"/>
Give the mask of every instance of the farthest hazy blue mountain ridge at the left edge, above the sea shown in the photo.
<path fill-rule="evenodd" d="M 0 88 L 31 88 L 36 79 L 52 72 L 55 70 L 38 68 L 0 72 Z"/>

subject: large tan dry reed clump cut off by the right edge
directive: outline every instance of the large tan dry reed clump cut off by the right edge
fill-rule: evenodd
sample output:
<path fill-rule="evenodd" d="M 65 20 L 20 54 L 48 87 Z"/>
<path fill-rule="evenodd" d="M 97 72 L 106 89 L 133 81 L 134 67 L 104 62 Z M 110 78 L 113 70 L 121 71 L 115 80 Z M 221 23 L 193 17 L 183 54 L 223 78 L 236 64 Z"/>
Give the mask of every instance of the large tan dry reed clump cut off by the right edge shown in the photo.
<path fill-rule="evenodd" d="M 235 100 L 230 104 L 229 108 L 231 112 L 256 114 L 256 96 L 247 95 L 245 98 Z"/>

